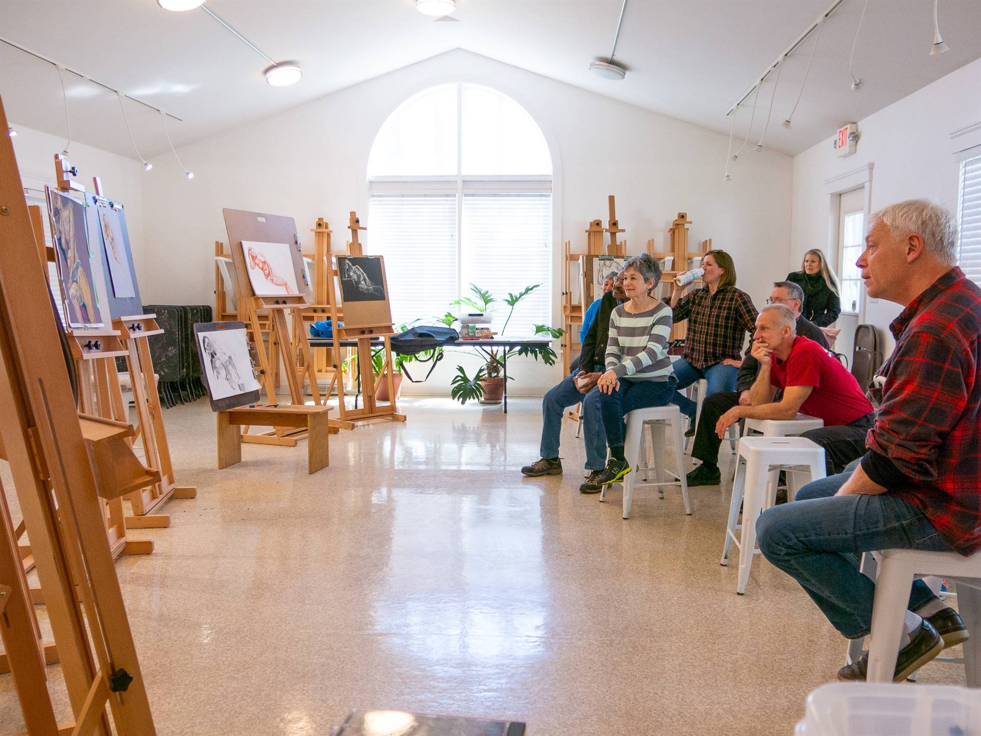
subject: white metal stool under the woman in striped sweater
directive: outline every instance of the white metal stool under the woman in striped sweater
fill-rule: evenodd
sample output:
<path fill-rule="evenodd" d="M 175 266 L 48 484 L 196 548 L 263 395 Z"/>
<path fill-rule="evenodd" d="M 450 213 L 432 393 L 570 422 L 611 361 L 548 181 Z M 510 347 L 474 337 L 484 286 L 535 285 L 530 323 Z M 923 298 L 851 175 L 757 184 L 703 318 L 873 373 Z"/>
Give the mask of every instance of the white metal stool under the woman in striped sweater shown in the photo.
<path fill-rule="evenodd" d="M 649 428 L 650 444 L 654 458 L 654 483 L 647 482 L 647 451 L 645 428 Z M 668 429 L 670 428 L 670 439 Z M 675 480 L 669 481 L 669 471 L 665 467 L 667 446 L 673 446 L 677 474 L 670 473 Z M 658 496 L 664 498 L 665 486 L 681 488 L 681 498 L 685 503 L 685 513 L 692 513 L 692 501 L 688 498 L 688 480 L 685 476 L 685 431 L 682 429 L 681 410 L 675 404 L 667 406 L 649 406 L 644 409 L 634 409 L 627 413 L 627 436 L 624 440 L 624 456 L 633 468 L 623 479 L 623 517 L 630 517 L 630 506 L 634 500 L 634 488 L 637 486 L 655 486 Z M 638 473 L 645 473 L 645 482 L 638 483 Z M 599 500 L 606 499 L 606 486 L 599 492 Z"/>

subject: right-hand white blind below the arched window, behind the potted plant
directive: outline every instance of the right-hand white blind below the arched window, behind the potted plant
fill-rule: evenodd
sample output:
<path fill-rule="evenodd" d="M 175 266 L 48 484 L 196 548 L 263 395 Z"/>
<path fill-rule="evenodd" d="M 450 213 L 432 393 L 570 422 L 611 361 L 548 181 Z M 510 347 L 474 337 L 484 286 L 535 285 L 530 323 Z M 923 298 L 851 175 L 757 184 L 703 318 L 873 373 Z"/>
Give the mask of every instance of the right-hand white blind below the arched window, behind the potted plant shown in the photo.
<path fill-rule="evenodd" d="M 465 193 L 460 257 L 460 290 L 487 289 L 494 304 L 494 331 L 504 327 L 508 307 L 500 300 L 535 284 L 508 323 L 510 337 L 535 334 L 551 324 L 551 194 Z"/>

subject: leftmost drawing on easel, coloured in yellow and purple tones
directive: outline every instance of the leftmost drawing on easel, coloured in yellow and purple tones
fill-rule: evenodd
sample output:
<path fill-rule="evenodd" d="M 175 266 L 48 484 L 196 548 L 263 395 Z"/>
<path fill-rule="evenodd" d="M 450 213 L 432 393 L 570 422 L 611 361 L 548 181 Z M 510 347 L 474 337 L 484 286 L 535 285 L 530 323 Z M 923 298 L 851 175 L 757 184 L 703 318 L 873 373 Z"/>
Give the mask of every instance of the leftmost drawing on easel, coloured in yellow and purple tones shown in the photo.
<path fill-rule="evenodd" d="M 48 189 L 48 204 L 68 324 L 70 327 L 101 326 L 88 253 L 85 205 L 53 189 Z"/>

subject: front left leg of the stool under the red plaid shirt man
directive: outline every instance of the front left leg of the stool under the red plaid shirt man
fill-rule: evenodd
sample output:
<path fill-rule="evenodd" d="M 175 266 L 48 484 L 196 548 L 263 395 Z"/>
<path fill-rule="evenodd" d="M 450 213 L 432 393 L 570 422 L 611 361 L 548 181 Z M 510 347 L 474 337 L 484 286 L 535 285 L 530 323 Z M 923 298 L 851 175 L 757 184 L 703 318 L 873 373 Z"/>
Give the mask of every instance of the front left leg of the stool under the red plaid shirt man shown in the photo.
<path fill-rule="evenodd" d="M 866 682 L 893 681 L 906 605 L 909 604 L 909 587 L 912 584 L 913 571 L 910 566 L 889 557 L 879 561 Z"/>

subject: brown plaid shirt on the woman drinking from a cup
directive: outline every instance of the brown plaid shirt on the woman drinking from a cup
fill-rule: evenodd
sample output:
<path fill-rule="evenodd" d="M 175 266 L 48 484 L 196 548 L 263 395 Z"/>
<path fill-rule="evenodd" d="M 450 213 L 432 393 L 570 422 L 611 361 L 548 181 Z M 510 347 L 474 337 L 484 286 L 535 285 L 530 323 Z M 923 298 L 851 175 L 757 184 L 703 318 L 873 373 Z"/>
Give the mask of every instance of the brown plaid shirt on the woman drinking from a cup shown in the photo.
<path fill-rule="evenodd" d="M 665 299 L 667 301 L 667 299 Z M 756 307 L 746 291 L 722 287 L 685 294 L 674 309 L 674 321 L 689 320 L 685 359 L 696 368 L 708 368 L 725 358 L 739 360 L 746 334 L 756 329 Z"/>

